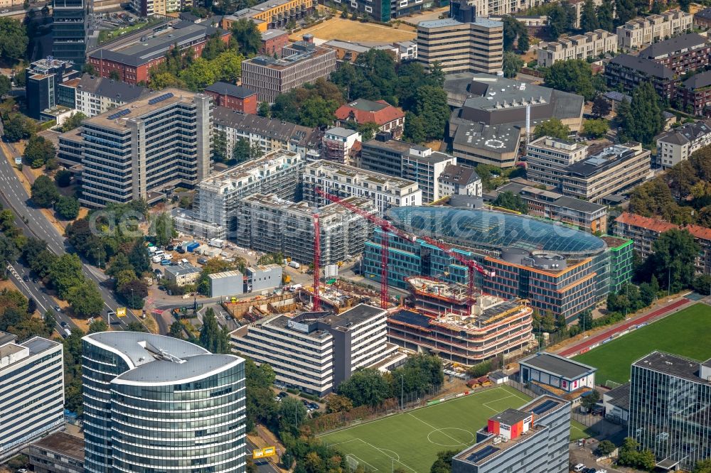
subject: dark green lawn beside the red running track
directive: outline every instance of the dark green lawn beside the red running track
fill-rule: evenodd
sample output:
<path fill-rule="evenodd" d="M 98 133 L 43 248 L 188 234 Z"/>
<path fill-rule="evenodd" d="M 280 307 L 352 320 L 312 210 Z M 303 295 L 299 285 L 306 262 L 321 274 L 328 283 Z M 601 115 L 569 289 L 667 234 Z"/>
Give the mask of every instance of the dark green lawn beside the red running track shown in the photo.
<path fill-rule="evenodd" d="M 574 359 L 597 368 L 597 384 L 626 383 L 631 364 L 654 350 L 700 361 L 711 358 L 711 307 L 692 305 Z"/>

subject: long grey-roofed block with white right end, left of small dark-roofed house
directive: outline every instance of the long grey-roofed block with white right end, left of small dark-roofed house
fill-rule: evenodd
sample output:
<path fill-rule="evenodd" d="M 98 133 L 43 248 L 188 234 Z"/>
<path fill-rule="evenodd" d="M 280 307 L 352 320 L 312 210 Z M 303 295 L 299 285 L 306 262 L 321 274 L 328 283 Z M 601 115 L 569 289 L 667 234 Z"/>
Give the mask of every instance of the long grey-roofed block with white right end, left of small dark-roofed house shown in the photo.
<path fill-rule="evenodd" d="M 429 203 L 447 195 L 439 178 L 444 170 L 456 164 L 456 158 L 431 148 L 392 139 L 379 133 L 363 143 L 356 165 L 360 169 L 412 180 L 422 190 L 422 202 Z M 476 173 L 475 173 L 476 175 Z"/>

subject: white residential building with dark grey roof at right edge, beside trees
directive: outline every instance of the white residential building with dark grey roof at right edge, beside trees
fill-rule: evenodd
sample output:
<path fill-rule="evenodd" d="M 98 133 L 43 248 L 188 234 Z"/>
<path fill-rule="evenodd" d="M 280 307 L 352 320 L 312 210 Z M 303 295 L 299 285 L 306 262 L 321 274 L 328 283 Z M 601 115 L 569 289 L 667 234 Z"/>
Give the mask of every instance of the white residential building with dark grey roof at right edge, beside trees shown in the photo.
<path fill-rule="evenodd" d="M 657 162 L 661 168 L 671 168 L 686 161 L 691 153 L 711 144 L 711 121 L 697 121 L 678 126 L 656 136 Z"/>

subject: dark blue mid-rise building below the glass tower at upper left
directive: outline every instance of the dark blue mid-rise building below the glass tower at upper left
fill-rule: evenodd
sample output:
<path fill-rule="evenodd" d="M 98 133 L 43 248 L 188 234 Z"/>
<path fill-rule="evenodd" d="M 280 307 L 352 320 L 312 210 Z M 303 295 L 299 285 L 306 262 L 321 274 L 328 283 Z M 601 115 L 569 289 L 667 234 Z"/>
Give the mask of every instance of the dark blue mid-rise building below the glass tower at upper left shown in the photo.
<path fill-rule="evenodd" d="M 32 62 L 25 70 L 27 114 L 33 119 L 42 118 L 42 112 L 57 105 L 74 108 L 73 103 L 60 94 L 60 84 L 80 76 L 72 69 L 73 63 L 58 59 L 41 59 Z"/>

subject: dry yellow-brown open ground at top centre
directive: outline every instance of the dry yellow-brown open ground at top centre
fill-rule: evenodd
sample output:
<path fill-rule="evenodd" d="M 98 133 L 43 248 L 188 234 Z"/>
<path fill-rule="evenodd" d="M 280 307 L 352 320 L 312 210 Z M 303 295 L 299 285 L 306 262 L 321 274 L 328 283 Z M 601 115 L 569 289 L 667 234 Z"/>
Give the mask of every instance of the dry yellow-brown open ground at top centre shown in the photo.
<path fill-rule="evenodd" d="M 346 20 L 344 18 L 331 18 L 318 25 L 305 28 L 289 36 L 291 40 L 300 40 L 305 33 L 311 33 L 321 40 L 346 40 L 363 41 L 366 43 L 391 43 L 392 41 L 413 40 L 417 33 L 412 26 L 397 23 L 392 28 L 375 25 L 373 23 L 360 23 L 360 21 Z"/>

